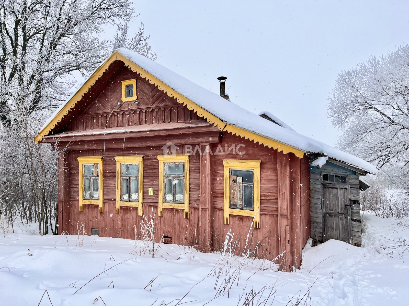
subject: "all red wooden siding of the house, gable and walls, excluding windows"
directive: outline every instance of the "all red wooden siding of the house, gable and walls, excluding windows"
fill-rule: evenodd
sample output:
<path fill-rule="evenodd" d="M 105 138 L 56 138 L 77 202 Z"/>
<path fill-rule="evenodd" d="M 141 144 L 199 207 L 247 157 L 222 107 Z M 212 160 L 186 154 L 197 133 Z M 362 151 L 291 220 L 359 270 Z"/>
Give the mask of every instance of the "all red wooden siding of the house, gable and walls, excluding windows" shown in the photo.
<path fill-rule="evenodd" d="M 198 120 L 197 114 L 170 98 L 166 93 L 124 65 L 114 62 L 90 92 L 79 101 L 78 108 L 68 114 L 71 123 L 67 130 L 88 130 L 121 126 L 146 125 Z M 107 74 L 107 75 L 105 75 Z M 121 101 L 121 81 L 136 78 L 139 103 Z M 98 91 L 96 93 L 95 91 Z M 121 105 L 118 106 L 117 102 Z M 78 110 L 80 109 L 80 111 Z M 75 113 L 77 112 L 77 113 Z M 71 117 L 70 117 L 71 116 Z M 264 120 L 264 119 L 260 119 Z M 60 126 L 61 128 L 61 126 Z M 60 233 L 76 234 L 77 222 L 82 222 L 85 231 L 98 228 L 104 237 L 135 239 L 140 234 L 142 217 L 137 208 L 121 207 L 115 211 L 116 155 L 144 155 L 143 212 L 155 214 L 156 240 L 162 235 L 171 236 L 172 242 L 198 246 L 201 251 L 219 250 L 231 228 L 234 239 L 240 241 L 243 252 L 245 239 L 252 223 L 251 217 L 230 216 L 230 224 L 223 224 L 224 186 L 223 160 L 261 160 L 260 164 L 260 228 L 252 228 L 249 247 L 255 256 L 274 259 L 287 271 L 301 264 L 301 249 L 310 236 L 310 178 L 308 158 L 294 154 L 283 154 L 268 149 L 236 135 L 221 133 L 212 126 L 194 126 L 191 129 L 146 130 L 128 134 L 82 135 L 68 143 L 68 153 L 58 160 L 58 220 Z M 178 146 L 177 153 L 184 154 L 184 145 L 195 149 L 200 146 L 200 155 L 189 157 L 189 219 L 184 218 L 182 209 L 164 208 L 163 217 L 157 215 L 158 208 L 158 160 L 163 154 L 161 147 L 167 142 Z M 237 146 L 240 146 L 237 149 Z M 234 149 L 233 149 L 234 146 Z M 229 151 L 230 150 L 230 151 Z M 226 155 L 225 153 L 228 152 Z M 240 155 L 238 152 L 245 152 Z M 222 153 L 222 154 L 220 154 Z M 79 156 L 103 155 L 103 213 L 97 205 L 83 205 L 78 210 L 79 199 Z M 153 188 L 153 195 L 148 195 Z"/>

